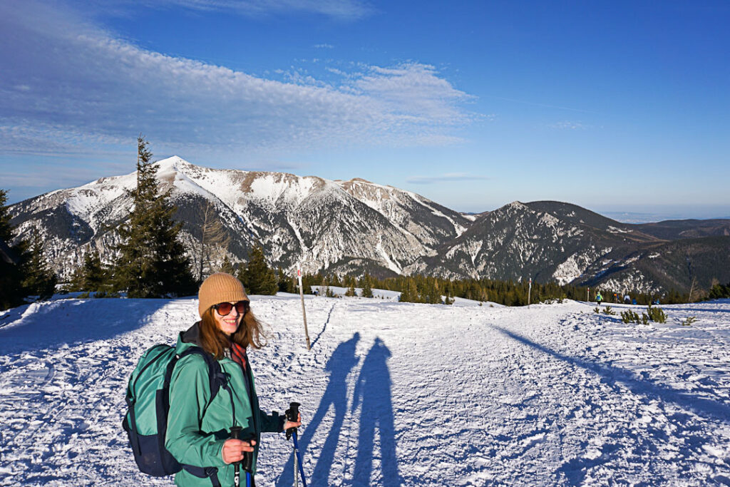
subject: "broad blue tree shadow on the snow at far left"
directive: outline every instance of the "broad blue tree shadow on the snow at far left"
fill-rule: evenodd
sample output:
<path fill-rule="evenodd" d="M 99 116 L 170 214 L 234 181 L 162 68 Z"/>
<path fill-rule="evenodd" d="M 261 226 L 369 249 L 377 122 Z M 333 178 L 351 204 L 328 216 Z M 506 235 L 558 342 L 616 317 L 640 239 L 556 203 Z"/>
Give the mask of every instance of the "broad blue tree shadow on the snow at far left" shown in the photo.
<path fill-rule="evenodd" d="M 117 337 L 143 326 L 145 318 L 169 302 L 170 299 L 105 298 L 31 304 L 28 310 L 35 306 L 37 311 L 23 318 L 18 316 L 18 323 L 0 328 L 0 353 L 29 352 Z M 191 316 L 191 323 L 193 318 L 196 316 Z M 185 328 L 185 323 L 178 328 Z"/>

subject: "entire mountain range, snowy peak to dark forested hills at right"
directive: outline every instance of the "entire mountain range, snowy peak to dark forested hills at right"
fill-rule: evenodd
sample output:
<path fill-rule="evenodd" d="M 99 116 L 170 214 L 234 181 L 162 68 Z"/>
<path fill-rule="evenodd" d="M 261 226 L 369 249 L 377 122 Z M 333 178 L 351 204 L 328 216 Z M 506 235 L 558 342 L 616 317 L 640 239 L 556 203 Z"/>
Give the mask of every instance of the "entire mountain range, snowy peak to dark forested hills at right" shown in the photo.
<path fill-rule="evenodd" d="M 563 202 L 467 215 L 366 180 L 210 169 L 177 156 L 158 161 L 157 177 L 172 190 L 193 261 L 206 213 L 220 222 L 228 239 L 212 267 L 224 256 L 245 261 L 259 242 L 274 267 L 339 275 L 532 277 L 614 292 L 730 282 L 730 220 L 628 224 Z M 19 238 L 39 231 L 53 269 L 68 278 L 90 248 L 112 261 L 136 181 L 136 173 L 102 177 L 26 199 L 9 207 L 12 223 Z"/>

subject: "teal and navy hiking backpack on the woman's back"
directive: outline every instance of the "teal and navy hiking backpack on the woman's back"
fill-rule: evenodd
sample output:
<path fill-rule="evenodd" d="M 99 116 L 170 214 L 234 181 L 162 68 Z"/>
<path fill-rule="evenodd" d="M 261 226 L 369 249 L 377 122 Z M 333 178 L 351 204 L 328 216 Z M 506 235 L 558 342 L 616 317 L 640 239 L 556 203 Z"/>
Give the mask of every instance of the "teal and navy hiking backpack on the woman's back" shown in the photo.
<path fill-rule="evenodd" d="M 202 356 L 208 366 L 212 401 L 221 387 L 228 388 L 228 383 L 218 361 L 200 347 L 190 347 L 177 355 L 175 348 L 170 345 L 155 345 L 142 354 L 129 377 L 127 413 L 122 427 L 127 432 L 134 460 L 141 472 L 164 477 L 180 472 L 183 468 L 191 470 L 189 466 L 178 463 L 167 451 L 165 434 L 172 370 L 180 358 L 193 353 Z M 193 472 L 193 475 L 210 476 L 212 472 L 206 469 L 206 472 Z"/>

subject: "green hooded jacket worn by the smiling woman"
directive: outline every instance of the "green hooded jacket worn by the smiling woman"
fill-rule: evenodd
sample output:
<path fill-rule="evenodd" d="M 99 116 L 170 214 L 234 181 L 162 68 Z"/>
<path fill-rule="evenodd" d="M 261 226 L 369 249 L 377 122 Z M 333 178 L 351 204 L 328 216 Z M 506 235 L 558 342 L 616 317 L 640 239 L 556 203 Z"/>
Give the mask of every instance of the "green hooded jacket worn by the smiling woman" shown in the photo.
<path fill-rule="evenodd" d="M 198 345 L 199 329 L 196 323 L 188 331 L 180 332 L 175 351 L 179 354 L 186 348 Z M 261 432 L 281 432 L 285 417 L 272 413 L 267 415 L 258 408 L 251 367 L 243 369 L 231 358 L 219 361 L 220 369 L 228 375 L 231 394 L 220 388 L 210 400 L 208 367 L 203 357 L 192 354 L 180 358 L 172 372 L 170 381 L 170 408 L 167 416 L 165 448 L 180 464 L 194 467 L 217 467 L 218 480 L 222 486 L 234 483 L 234 466 L 223 462 L 223 443 L 228 440 L 229 430 L 236 413 L 236 426 L 241 426 L 241 439 L 255 435 L 253 472 L 256 470 L 256 456 Z M 248 386 L 250 384 L 250 386 Z M 232 403 L 231 403 L 232 399 Z M 245 475 L 241 472 L 242 478 Z M 175 474 L 178 486 L 210 487 L 208 478 L 198 478 L 181 470 Z"/>

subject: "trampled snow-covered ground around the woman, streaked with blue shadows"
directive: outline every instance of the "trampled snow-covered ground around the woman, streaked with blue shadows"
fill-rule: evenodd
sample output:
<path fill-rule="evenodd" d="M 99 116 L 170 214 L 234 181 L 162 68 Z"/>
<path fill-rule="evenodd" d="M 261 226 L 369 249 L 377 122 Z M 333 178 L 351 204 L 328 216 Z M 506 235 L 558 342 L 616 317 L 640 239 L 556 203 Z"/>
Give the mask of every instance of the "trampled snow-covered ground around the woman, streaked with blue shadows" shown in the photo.
<path fill-rule="evenodd" d="M 650 326 L 593 307 L 307 296 L 307 351 L 299 296 L 253 296 L 269 345 L 250 356 L 262 407 L 302 404 L 311 486 L 730 485 L 730 301 L 664 306 Z M 123 396 L 142 351 L 196 310 L 0 312 L 0 485 L 172 485 L 137 472 Z M 283 435 L 259 467 L 259 486 L 292 485 Z"/>

